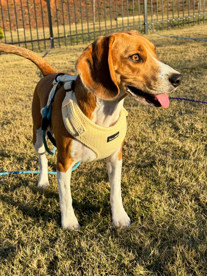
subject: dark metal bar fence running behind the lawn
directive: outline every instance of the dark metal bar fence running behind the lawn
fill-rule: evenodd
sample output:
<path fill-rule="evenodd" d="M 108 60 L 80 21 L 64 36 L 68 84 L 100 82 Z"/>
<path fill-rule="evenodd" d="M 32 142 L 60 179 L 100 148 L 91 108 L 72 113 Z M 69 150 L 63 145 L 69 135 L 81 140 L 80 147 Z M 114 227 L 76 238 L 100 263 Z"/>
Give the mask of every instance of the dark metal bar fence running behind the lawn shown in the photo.
<path fill-rule="evenodd" d="M 29 49 L 93 41 L 114 30 L 205 23 L 207 0 L 0 0 L 3 43 Z"/>

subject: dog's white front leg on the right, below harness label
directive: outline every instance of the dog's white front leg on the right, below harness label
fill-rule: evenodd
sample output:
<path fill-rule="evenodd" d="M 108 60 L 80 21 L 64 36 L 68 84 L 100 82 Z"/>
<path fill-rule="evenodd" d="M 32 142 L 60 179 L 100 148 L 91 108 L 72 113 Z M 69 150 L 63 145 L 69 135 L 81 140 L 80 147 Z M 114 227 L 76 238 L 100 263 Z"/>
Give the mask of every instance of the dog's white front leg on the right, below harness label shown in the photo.
<path fill-rule="evenodd" d="M 130 218 L 124 210 L 121 196 L 121 169 L 122 146 L 112 155 L 106 158 L 109 182 L 111 187 L 110 203 L 112 208 L 112 222 L 115 227 L 129 227 Z"/>

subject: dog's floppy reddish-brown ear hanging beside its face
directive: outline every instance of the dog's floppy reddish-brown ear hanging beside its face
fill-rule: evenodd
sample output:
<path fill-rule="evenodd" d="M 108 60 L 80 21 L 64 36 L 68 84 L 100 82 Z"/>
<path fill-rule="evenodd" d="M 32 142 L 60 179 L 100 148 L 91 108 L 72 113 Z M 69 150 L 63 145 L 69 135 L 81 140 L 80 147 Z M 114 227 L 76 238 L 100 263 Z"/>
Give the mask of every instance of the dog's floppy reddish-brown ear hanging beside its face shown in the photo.
<path fill-rule="evenodd" d="M 99 37 L 78 58 L 76 70 L 89 91 L 102 99 L 111 100 L 118 96 L 111 47 L 114 35 Z"/>

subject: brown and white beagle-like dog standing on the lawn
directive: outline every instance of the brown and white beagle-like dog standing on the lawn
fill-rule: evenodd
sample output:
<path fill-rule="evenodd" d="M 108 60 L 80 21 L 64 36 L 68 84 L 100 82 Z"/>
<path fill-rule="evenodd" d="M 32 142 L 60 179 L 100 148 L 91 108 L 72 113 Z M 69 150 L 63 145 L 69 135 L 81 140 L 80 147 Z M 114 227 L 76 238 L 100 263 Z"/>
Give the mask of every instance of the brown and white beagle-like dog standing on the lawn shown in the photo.
<path fill-rule="evenodd" d="M 41 56 L 28 49 L 0 43 L 0 51 L 26 57 L 43 73 L 34 91 L 32 118 L 33 145 L 40 166 L 38 187 L 45 189 L 49 181 L 40 111 L 47 105 L 57 72 Z M 74 95 L 77 105 L 87 120 L 105 129 L 116 125 L 124 98 L 128 95 L 144 105 L 167 108 L 168 93 L 173 92 L 183 78 L 179 72 L 158 60 L 155 46 L 135 30 L 100 36 L 78 57 L 76 70 L 78 76 Z M 97 153 L 66 129 L 62 116 L 65 96 L 64 86 L 60 85 L 52 104 L 50 126 L 57 144 L 57 183 L 62 228 L 75 230 L 80 229 L 80 225 L 72 207 L 71 170 L 79 161 L 96 160 Z M 112 137 L 112 140 L 116 140 L 116 137 Z M 123 141 L 120 141 L 118 148 L 116 146 L 114 152 L 107 154 L 106 163 L 111 188 L 112 222 L 115 227 L 127 228 L 131 220 L 122 205 L 122 145 Z"/>

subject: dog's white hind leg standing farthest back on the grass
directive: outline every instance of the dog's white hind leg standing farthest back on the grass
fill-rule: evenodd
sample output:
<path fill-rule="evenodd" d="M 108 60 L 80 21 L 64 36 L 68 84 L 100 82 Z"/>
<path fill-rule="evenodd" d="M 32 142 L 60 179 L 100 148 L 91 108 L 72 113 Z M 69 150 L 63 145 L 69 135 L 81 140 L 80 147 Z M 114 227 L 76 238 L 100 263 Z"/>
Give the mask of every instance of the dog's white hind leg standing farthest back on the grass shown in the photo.
<path fill-rule="evenodd" d="M 46 189 L 47 186 L 49 185 L 49 180 L 48 180 L 47 157 L 45 155 L 45 147 L 43 145 L 41 128 L 37 129 L 37 131 L 33 129 L 33 141 L 34 141 L 34 137 L 36 137 L 36 142 L 33 143 L 33 146 L 39 156 L 39 170 L 40 170 L 39 182 L 37 186 L 38 188 Z"/>

